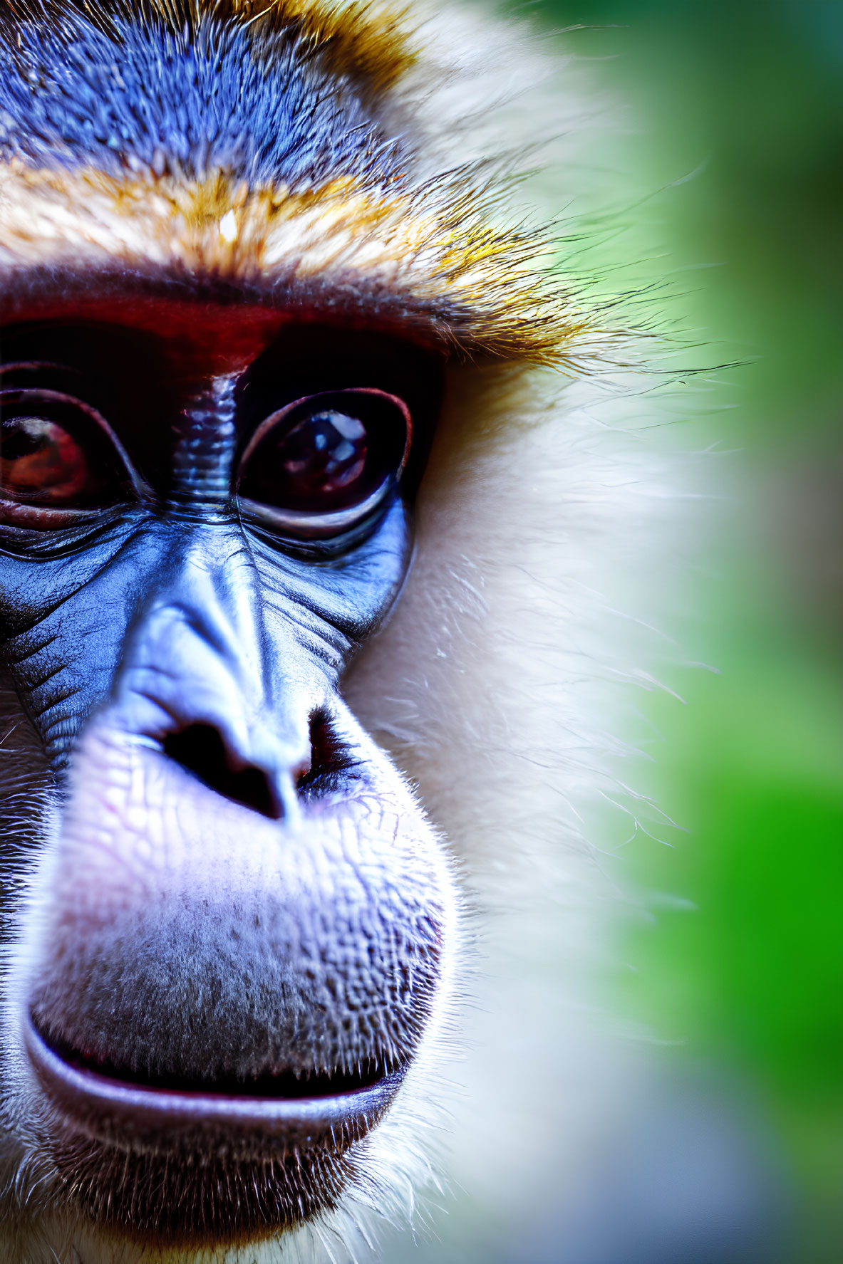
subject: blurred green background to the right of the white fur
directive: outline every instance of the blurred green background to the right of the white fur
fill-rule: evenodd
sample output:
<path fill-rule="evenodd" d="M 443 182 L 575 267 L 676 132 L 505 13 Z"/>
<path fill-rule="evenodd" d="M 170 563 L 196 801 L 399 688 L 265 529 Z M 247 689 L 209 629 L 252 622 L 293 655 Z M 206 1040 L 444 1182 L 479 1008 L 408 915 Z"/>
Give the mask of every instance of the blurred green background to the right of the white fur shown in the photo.
<path fill-rule="evenodd" d="M 654 793 L 687 833 L 625 849 L 691 901 L 629 933 L 618 1005 L 668 1059 L 751 1087 L 797 1191 L 800 1264 L 843 1259 L 843 5 L 513 5 L 629 102 L 629 241 L 661 257 L 706 377 L 721 520 L 694 590 L 687 703 L 648 695 Z M 694 173 L 691 178 L 682 177 Z M 610 186 L 611 187 L 611 186 Z M 621 195 L 623 196 L 623 195 Z M 624 212 L 619 216 L 624 219 Z M 599 253 L 597 248 L 597 253 Z M 644 249 L 642 246 L 642 249 Z M 616 252 L 616 246 L 615 246 Z M 697 408 L 699 411 L 699 408 Z M 667 846 L 670 843 L 670 846 Z"/>

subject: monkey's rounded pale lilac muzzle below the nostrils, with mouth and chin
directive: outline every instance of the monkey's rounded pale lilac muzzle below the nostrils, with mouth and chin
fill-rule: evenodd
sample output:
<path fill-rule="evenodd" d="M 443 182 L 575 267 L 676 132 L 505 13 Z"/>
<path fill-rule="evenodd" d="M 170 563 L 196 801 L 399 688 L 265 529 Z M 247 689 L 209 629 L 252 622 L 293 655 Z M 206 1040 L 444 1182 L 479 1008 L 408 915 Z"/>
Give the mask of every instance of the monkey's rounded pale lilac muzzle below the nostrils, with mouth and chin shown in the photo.
<path fill-rule="evenodd" d="M 287 824 L 104 726 L 75 775 L 15 1024 L 49 1198 L 185 1253 L 329 1212 L 438 1012 L 432 841 L 397 791 Z"/>

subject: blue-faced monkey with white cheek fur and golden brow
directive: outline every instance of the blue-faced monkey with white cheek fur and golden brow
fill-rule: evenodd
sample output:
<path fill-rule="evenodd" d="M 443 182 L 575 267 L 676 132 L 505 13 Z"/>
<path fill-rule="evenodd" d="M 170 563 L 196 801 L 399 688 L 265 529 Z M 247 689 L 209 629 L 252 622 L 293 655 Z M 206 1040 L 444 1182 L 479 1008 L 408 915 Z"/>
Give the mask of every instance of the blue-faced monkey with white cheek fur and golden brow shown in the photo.
<path fill-rule="evenodd" d="M 576 379 L 625 332 L 509 209 L 544 63 L 477 25 L 1 6 L 10 1260 L 368 1253 L 432 1170 L 461 865 L 518 854 L 524 732 L 585 769 L 489 555 L 600 516 Z"/>

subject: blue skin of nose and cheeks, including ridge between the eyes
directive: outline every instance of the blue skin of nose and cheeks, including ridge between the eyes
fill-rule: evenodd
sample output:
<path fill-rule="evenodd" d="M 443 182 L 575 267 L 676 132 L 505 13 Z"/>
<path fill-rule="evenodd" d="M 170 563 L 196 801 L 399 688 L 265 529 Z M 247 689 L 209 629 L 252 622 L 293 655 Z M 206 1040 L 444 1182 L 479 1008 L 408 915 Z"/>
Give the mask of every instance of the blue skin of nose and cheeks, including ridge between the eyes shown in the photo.
<path fill-rule="evenodd" d="M 24 336 L 29 348 L 44 335 Z M 22 358 L 14 335 L 0 353 Z M 0 523 L 1 652 L 57 774 L 85 718 L 109 705 L 132 739 L 211 726 L 238 766 L 263 774 L 282 815 L 309 723 L 342 712 L 342 675 L 404 580 L 409 494 L 395 485 L 371 518 L 318 542 L 242 518 L 238 460 L 254 421 L 229 386 L 148 418 L 170 451 L 154 485 L 124 488 L 76 523 Z M 129 461 L 138 440 L 120 435 Z"/>

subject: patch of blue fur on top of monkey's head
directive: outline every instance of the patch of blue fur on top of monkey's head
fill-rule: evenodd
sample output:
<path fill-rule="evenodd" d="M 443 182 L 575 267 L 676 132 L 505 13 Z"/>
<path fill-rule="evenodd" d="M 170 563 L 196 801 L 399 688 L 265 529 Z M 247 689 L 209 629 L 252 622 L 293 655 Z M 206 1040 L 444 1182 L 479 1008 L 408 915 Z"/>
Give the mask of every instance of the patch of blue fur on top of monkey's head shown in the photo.
<path fill-rule="evenodd" d="M 78 15 L 0 32 L 0 157 L 29 166 L 138 166 L 249 185 L 306 187 L 337 176 L 380 185 L 395 173 L 356 91 L 290 34 L 257 46 L 247 29 L 204 23 L 191 35 L 122 21 L 115 38 Z M 271 54 L 271 56 L 268 56 Z"/>

